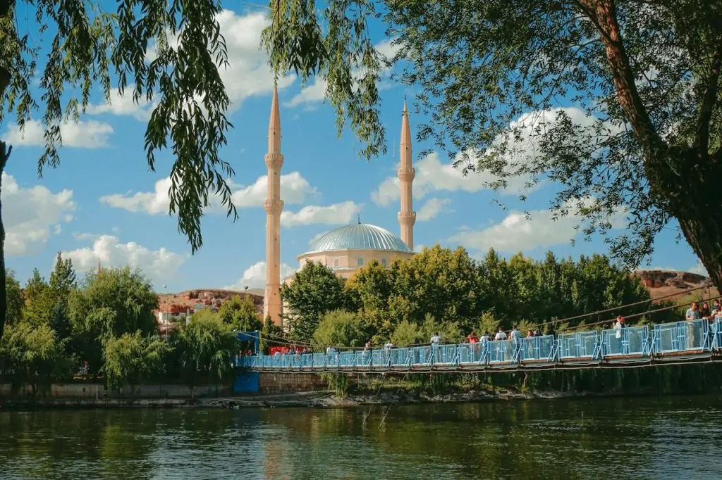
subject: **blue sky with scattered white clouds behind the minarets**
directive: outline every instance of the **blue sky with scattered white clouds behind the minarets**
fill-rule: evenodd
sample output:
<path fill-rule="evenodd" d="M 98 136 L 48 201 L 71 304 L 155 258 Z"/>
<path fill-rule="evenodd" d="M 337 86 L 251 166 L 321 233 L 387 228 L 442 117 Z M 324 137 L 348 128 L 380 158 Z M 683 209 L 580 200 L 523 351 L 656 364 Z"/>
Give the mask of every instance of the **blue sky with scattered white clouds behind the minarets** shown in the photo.
<path fill-rule="evenodd" d="M 238 220 L 209 210 L 202 222 L 204 246 L 191 255 L 177 218 L 168 215 L 168 174 L 173 156 L 162 151 L 150 172 L 143 148 L 149 105 L 135 105 L 116 94 L 111 105 L 95 92 L 78 124 L 63 125 L 61 165 L 38 178 L 43 153 L 43 126 L 33 120 L 20 133 L 7 121 L 0 138 L 14 147 L 2 177 L 2 214 L 6 228 L 6 266 L 24 284 L 33 268 L 48 276 L 58 252 L 80 272 L 103 266 L 139 267 L 160 292 L 191 288 L 260 288 L 265 283 L 266 166 L 273 75 L 266 54 L 258 50 L 266 20 L 253 10 L 227 10 L 219 17 L 227 42 L 230 69 L 222 71 L 232 100 L 228 145 L 222 156 L 235 169 L 233 201 Z M 388 56 L 393 46 L 375 31 L 378 50 Z M 396 67 L 398 68 L 398 67 Z M 388 74 L 388 72 L 386 72 Z M 399 136 L 404 95 L 414 91 L 384 79 L 381 121 L 388 154 L 366 162 L 350 132 L 336 135 L 335 114 L 323 101 L 323 81 L 302 86 L 292 77 L 279 82 L 282 153 L 282 275 L 298 267 L 297 256 L 327 231 L 355 223 L 371 223 L 399 235 Z M 410 103 L 410 102 L 409 102 Z M 574 105 L 560 105 L 570 114 Z M 412 137 L 423 117 L 410 107 Z M 35 118 L 40 115 L 36 114 Z M 8 117 L 9 119 L 9 117 Z M 441 244 L 464 246 L 481 258 L 493 247 L 509 257 L 516 252 L 543 258 L 606 253 L 601 239 L 578 238 L 573 216 L 552 219 L 549 200 L 557 187 L 543 184 L 518 199 L 523 182 L 511 182 L 501 193 L 486 190 L 488 177 L 464 177 L 445 154 L 419 156 L 431 145 L 414 143 L 414 249 Z M 493 200 L 507 206 L 500 208 Z M 524 212 L 530 213 L 531 219 Z M 624 228 L 617 219 L 614 226 Z M 677 242 L 674 226 L 656 241 L 645 268 L 704 273 L 690 246 Z"/>

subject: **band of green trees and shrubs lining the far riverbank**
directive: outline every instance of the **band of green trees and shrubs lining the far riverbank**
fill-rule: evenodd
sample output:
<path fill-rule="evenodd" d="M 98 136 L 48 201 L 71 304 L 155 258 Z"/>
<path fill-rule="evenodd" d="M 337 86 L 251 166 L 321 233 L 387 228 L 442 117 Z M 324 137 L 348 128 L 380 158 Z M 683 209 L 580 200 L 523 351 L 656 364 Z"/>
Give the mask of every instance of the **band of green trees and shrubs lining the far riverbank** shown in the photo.
<path fill-rule="evenodd" d="M 236 355 L 253 348 L 253 342 L 240 341 L 237 332 L 258 331 L 261 352 L 287 346 L 323 352 L 327 347 L 362 348 L 367 342 L 372 347 L 389 341 L 404 347 L 428 342 L 437 332 L 444 342 L 460 343 L 471 332 L 508 331 L 514 325 L 522 332 L 542 325 L 553 326 L 557 332 L 599 328 L 600 322 L 617 314 L 631 316 L 631 326 L 680 319 L 684 312 L 674 311 L 679 306 L 655 303 L 640 278 L 602 255 L 574 261 L 557 259 L 551 252 L 544 260 L 520 253 L 503 259 L 490 250 L 477 260 L 463 248 L 438 245 L 388 267 L 371 262 L 348 280 L 337 277 L 329 267 L 307 263 L 290 285 L 282 286 L 289 306 L 283 329 L 270 319 L 261 321 L 250 298 L 235 297 L 218 311 L 195 312 L 163 337 L 153 313 L 158 308 L 157 295 L 142 272 L 109 268 L 88 272 L 78 281 L 71 261 L 60 254 L 49 280 L 35 270 L 25 288 L 20 288 L 8 272 L 6 287 L 12 308 L 0 338 L 0 385 L 9 386 L 9 394 L 0 396 L 5 406 L 17 402 L 54 405 L 60 400 L 53 397 L 65 393 L 53 391 L 53 386 L 74 384 L 75 379 L 94 386 L 100 383 L 101 396 L 107 387 L 110 400 L 87 398 L 97 398 L 94 393 L 77 394 L 64 402 L 155 405 L 168 398 L 168 404 L 182 404 L 170 399 L 184 399 L 187 392 L 186 403 L 196 404 L 196 398 L 206 402 L 218 397 L 206 391 L 208 386 L 219 386 L 228 398 L 243 399 L 230 395 L 238 373 L 245 371 L 232 365 Z M 608 309 L 614 313 L 606 320 L 596 314 Z M 261 393 L 318 389 L 318 382 L 310 386 L 273 376 L 265 379 L 265 386 L 258 387 Z M 435 396 L 464 401 L 470 391 L 500 388 L 521 392 L 518 398 L 526 398 L 529 392 L 573 396 L 718 391 L 722 368 L 323 373 L 318 379 L 338 399 L 331 403 L 342 405 L 357 396 L 363 404 L 369 401 L 363 400 L 364 395 L 379 391 L 397 392 L 409 401 Z M 147 393 L 159 385 L 182 385 L 184 390 Z M 117 399 L 121 388 L 129 398 Z M 484 394 L 477 400 L 487 398 Z"/>

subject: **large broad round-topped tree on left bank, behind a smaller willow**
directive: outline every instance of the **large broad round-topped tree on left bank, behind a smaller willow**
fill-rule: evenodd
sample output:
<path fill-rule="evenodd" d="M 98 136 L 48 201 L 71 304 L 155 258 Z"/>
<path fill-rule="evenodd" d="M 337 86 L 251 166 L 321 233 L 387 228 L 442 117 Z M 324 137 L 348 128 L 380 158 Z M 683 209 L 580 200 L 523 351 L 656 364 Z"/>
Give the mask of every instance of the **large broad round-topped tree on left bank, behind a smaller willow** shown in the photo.
<path fill-rule="evenodd" d="M 129 267 L 90 273 L 83 288 L 73 290 L 68 313 L 77 336 L 80 360 L 97 372 L 103 358 L 103 341 L 123 334 L 154 335 L 158 326 L 154 310 L 158 297 L 149 280 Z"/>

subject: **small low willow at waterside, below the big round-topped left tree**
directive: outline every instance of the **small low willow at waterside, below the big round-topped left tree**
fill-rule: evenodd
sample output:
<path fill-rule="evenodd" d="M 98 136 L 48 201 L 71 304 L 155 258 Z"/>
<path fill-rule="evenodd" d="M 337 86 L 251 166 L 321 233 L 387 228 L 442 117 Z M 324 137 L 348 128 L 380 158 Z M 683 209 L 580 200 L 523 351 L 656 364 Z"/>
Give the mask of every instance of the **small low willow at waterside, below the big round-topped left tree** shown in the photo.
<path fill-rule="evenodd" d="M 159 337 L 144 335 L 140 330 L 105 339 L 103 372 L 108 385 L 130 386 L 132 399 L 135 387 L 160 368 L 167 349 L 168 344 Z"/>

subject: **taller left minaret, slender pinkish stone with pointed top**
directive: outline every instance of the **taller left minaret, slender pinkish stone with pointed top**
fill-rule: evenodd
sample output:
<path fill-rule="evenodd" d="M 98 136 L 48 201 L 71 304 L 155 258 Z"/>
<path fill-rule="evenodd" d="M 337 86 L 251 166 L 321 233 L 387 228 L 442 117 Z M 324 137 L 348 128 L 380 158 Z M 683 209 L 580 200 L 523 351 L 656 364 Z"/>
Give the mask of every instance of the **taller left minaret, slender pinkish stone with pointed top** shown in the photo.
<path fill-rule="evenodd" d="M 271 317 L 280 325 L 281 303 L 281 113 L 278 107 L 278 89 L 274 86 L 269 120 L 269 152 L 265 156 L 268 168 L 268 195 L 266 208 L 266 293 L 264 295 L 264 321 Z"/>

